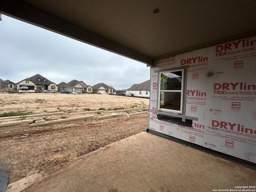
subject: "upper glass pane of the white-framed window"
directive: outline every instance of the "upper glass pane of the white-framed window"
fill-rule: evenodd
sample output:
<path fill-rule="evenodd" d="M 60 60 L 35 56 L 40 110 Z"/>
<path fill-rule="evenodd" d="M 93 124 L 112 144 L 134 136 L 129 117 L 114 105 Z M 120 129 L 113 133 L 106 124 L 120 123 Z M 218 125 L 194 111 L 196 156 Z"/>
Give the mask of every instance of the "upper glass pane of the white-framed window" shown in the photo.
<path fill-rule="evenodd" d="M 161 90 L 181 90 L 182 71 L 161 74 Z"/>

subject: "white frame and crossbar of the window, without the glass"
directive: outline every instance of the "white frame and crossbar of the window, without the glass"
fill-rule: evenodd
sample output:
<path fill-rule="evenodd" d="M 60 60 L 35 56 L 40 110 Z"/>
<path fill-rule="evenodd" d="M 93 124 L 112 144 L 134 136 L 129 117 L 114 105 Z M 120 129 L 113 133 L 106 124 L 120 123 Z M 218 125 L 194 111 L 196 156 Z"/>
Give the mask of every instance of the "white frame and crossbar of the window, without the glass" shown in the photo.
<path fill-rule="evenodd" d="M 175 71 L 181 71 L 181 90 L 161 90 L 161 75 L 164 73 L 173 73 Z M 167 112 L 172 112 L 172 113 L 177 113 L 177 114 L 182 114 L 182 110 L 183 110 L 183 84 L 184 84 L 184 69 L 176 69 L 176 70 L 167 70 L 167 71 L 161 71 L 159 73 L 159 93 L 158 93 L 158 110 L 160 111 L 167 111 Z M 180 110 L 173 110 L 173 109 L 165 109 L 165 108 L 160 108 L 160 100 L 161 100 L 161 92 L 181 92 L 180 96 Z"/>

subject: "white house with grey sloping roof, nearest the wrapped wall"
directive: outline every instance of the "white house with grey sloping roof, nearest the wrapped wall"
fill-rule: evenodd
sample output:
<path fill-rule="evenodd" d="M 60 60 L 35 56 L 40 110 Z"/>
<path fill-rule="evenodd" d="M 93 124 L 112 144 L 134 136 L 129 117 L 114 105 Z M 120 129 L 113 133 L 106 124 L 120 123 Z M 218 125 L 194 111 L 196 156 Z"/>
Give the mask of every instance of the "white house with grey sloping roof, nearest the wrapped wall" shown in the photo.
<path fill-rule="evenodd" d="M 140 84 L 133 84 L 129 89 L 126 89 L 126 95 L 132 97 L 149 98 L 150 95 L 150 80 Z"/>

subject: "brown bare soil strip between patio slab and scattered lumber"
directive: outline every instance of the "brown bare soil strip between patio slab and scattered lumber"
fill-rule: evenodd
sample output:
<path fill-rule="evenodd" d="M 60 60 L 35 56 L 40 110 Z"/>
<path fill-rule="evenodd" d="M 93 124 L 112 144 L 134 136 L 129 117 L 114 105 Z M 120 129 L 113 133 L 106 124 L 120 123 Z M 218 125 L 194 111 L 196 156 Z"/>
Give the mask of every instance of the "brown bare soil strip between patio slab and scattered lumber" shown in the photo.
<path fill-rule="evenodd" d="M 0 162 L 11 169 L 9 182 L 37 172 L 48 174 L 79 156 L 140 133 L 147 127 L 148 117 L 144 115 L 17 131 L 12 137 L 0 138 Z"/>

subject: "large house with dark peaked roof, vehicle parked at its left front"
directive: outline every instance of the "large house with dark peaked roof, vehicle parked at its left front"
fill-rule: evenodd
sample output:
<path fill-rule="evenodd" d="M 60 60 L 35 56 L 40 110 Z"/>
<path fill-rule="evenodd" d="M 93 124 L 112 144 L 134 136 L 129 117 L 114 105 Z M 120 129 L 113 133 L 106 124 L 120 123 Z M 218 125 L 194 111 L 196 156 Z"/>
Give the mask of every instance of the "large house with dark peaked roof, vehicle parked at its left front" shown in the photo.
<path fill-rule="evenodd" d="M 28 77 L 23 79 L 22 81 L 17 83 L 17 89 L 20 90 L 21 86 L 27 86 L 28 91 L 35 90 L 55 90 L 58 91 L 58 85 L 51 82 L 49 79 L 43 77 L 40 74 L 36 74 L 32 77 Z"/>

